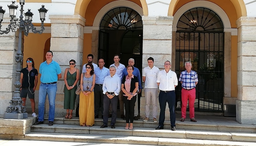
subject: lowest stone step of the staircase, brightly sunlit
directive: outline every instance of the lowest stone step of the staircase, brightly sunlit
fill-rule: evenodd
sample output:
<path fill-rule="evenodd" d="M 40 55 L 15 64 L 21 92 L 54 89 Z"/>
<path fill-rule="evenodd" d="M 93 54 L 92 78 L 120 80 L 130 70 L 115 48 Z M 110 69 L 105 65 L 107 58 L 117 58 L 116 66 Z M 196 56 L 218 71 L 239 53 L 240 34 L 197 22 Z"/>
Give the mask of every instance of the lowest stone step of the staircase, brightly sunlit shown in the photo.
<path fill-rule="evenodd" d="M 158 137 L 120 136 L 120 135 L 92 135 L 66 133 L 37 133 L 32 132 L 24 136 L 25 140 L 57 141 L 57 142 L 90 142 L 90 143 L 118 143 L 141 145 L 172 145 L 172 146 L 255 146 L 255 142 L 231 142 L 219 140 L 196 140 Z"/>

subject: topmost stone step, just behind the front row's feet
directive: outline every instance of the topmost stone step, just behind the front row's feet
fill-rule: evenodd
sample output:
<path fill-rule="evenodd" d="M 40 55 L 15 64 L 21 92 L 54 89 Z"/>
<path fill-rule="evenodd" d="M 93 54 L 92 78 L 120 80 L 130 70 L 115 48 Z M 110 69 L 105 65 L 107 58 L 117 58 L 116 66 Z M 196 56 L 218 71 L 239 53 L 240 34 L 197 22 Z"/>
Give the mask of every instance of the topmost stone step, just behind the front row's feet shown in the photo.
<path fill-rule="evenodd" d="M 111 118 L 108 118 L 108 124 L 110 125 Z M 45 124 L 48 124 L 48 118 L 44 120 Z M 121 118 L 116 119 L 117 127 L 124 127 L 125 120 Z M 65 125 L 79 125 L 79 118 L 74 117 L 73 119 L 65 119 L 63 117 L 55 117 L 54 124 L 65 124 Z M 101 126 L 102 119 L 95 119 L 94 126 Z M 136 128 L 156 128 L 158 123 L 154 123 L 152 120 L 143 122 L 143 120 L 134 120 L 133 127 Z M 164 128 L 170 128 L 170 121 L 164 122 Z M 203 130 L 203 131 L 220 131 L 220 132 L 245 132 L 255 133 L 255 125 L 244 125 L 239 124 L 236 121 L 209 121 L 209 120 L 198 120 L 197 122 L 190 122 L 186 119 L 185 122 L 180 122 L 176 119 L 176 129 L 186 130 Z"/>

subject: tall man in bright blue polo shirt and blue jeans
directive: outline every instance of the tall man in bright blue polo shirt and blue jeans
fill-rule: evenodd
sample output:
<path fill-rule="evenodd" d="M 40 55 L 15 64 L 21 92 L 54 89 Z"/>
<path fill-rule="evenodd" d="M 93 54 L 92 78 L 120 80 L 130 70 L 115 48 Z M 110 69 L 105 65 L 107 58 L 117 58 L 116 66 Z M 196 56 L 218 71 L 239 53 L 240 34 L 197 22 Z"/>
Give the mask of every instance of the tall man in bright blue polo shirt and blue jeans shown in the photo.
<path fill-rule="evenodd" d="M 61 78 L 60 65 L 52 60 L 52 51 L 47 51 L 46 61 L 40 64 L 41 84 L 39 88 L 38 121 L 34 125 L 44 124 L 44 103 L 46 95 L 49 99 L 49 126 L 53 125 L 55 114 L 55 97 L 57 81 Z"/>

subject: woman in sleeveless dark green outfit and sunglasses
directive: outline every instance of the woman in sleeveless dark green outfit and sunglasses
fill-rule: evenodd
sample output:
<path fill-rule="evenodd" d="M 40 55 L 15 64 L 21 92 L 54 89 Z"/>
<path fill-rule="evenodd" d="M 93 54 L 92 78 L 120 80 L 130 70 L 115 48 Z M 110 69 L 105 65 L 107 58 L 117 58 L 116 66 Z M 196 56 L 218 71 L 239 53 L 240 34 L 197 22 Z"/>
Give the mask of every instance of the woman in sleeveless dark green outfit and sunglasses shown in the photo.
<path fill-rule="evenodd" d="M 73 110 L 75 109 L 76 102 L 76 89 L 77 82 L 79 81 L 79 69 L 76 67 L 76 61 L 71 59 L 69 61 L 69 68 L 65 69 L 64 74 L 64 109 L 67 109 L 67 113 L 65 115 L 66 119 L 72 119 Z"/>

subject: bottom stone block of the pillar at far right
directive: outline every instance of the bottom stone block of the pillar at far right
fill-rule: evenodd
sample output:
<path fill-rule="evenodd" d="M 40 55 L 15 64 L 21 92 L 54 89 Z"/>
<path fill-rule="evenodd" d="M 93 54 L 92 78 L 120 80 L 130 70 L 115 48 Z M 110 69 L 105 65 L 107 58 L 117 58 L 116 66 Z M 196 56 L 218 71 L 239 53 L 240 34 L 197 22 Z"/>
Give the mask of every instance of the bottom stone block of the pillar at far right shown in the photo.
<path fill-rule="evenodd" d="M 256 124 L 256 101 L 236 100 L 236 121 L 240 124 Z"/>

